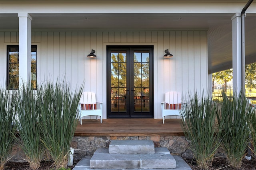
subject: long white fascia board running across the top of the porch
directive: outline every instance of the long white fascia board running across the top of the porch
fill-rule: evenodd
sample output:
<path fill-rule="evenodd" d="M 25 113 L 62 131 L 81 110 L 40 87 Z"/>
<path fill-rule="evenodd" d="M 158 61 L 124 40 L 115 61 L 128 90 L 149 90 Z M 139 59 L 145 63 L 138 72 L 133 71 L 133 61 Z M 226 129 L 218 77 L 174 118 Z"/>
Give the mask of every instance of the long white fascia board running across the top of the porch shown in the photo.
<path fill-rule="evenodd" d="M 242 3 L 3 3 L 0 13 L 84 14 L 84 13 L 237 13 Z M 246 11 L 256 13 L 253 3 Z"/>

